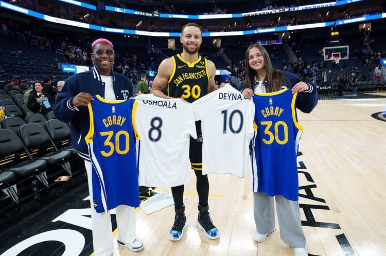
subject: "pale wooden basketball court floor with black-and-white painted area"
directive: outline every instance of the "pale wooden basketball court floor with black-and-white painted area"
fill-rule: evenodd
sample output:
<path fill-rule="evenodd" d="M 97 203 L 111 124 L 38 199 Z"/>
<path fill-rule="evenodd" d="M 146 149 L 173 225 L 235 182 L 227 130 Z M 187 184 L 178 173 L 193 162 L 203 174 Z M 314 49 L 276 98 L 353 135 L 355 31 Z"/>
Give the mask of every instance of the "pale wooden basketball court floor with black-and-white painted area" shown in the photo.
<path fill-rule="evenodd" d="M 297 112 L 304 126 L 297 159 L 299 203 L 309 255 L 386 253 L 385 109 L 386 93 L 374 93 L 355 99 L 325 97 L 311 114 Z M 378 119 L 372 117 L 376 113 Z M 196 227 L 198 196 L 196 177 L 193 173 L 191 177 L 185 186 L 188 227 L 183 239 L 168 239 L 174 218 L 172 206 L 149 215 L 138 208 L 136 233 L 145 249 L 131 252 L 119 247 L 119 255 L 293 255 L 292 248 L 280 240 L 279 229 L 264 243 L 253 241 L 256 229 L 251 181 L 231 175 L 209 174 L 209 210 L 221 236 L 207 239 Z M 170 188 L 157 190 L 168 192 Z M 63 241 L 37 243 L 19 255 L 62 255 L 76 246 L 82 248 L 80 255 L 92 254 L 87 215 L 90 204 L 84 200 L 87 193 L 85 183 L 40 211 L 24 214 L 17 225 L 0 233 L 3 252 L 14 245 L 21 247 L 29 237 L 44 232 L 52 236 L 55 231 L 61 235 L 78 232 L 83 240 L 74 236 L 67 237 L 66 245 Z"/>

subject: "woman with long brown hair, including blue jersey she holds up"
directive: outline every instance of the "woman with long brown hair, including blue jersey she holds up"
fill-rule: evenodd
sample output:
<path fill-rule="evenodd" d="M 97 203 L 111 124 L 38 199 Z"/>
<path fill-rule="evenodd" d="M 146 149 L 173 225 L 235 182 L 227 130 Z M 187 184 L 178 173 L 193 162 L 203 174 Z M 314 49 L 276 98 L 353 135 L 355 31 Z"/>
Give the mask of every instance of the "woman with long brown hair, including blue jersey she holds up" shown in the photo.
<path fill-rule="evenodd" d="M 295 74 L 275 70 L 267 50 L 258 44 L 251 45 L 247 49 L 245 65 L 247 74 L 242 94 L 248 98 L 254 96 L 258 131 L 253 140 L 251 155 L 254 217 L 257 229 L 253 238 L 256 242 L 262 243 L 266 241 L 267 236 L 275 232 L 275 197 L 280 238 L 294 248 L 295 256 L 306 256 L 308 253 L 300 219 L 296 165 L 296 141 L 299 141 L 301 132 L 300 135 L 294 135 L 290 129 L 294 126 L 303 129 L 297 124 L 295 107 L 302 112 L 310 113 L 318 103 L 317 89 L 313 83 L 302 82 Z M 278 107 L 284 101 L 286 107 Z M 260 109 L 258 105 L 263 106 Z M 277 109 L 277 112 L 273 109 Z M 273 125 L 273 116 L 281 115 L 280 118 L 283 118 L 285 114 L 282 112 L 288 113 L 286 119 L 275 121 Z M 264 120 L 259 119 L 261 113 Z M 275 132 L 271 131 L 273 127 Z M 286 150 L 276 150 L 283 148 Z M 295 148 L 296 151 L 293 150 Z"/>

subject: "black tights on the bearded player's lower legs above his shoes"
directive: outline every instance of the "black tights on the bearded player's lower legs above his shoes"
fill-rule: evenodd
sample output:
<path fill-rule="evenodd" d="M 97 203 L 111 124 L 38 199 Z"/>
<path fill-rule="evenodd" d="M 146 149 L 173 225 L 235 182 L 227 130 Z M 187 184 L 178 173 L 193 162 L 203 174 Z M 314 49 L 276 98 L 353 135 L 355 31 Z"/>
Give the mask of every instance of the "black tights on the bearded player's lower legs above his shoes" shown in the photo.
<path fill-rule="evenodd" d="M 209 181 L 208 181 L 208 175 L 202 175 L 201 171 L 196 171 L 196 177 L 197 177 L 197 193 L 198 193 L 198 199 L 199 204 L 201 206 L 207 206 L 208 205 L 208 195 L 209 195 Z M 184 185 L 172 187 L 171 188 L 171 194 L 173 195 L 174 200 L 174 207 L 180 208 L 184 202 Z"/>

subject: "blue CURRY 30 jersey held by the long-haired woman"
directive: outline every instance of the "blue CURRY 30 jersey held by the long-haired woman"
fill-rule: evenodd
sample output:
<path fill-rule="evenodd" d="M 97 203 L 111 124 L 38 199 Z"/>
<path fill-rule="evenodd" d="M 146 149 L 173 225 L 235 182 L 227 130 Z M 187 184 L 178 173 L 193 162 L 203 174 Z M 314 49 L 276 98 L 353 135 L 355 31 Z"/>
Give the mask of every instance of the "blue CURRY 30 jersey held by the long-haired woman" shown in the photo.
<path fill-rule="evenodd" d="M 299 200 L 296 155 L 303 127 L 295 116 L 297 93 L 291 89 L 252 97 L 255 134 L 252 144 L 252 190 Z"/>

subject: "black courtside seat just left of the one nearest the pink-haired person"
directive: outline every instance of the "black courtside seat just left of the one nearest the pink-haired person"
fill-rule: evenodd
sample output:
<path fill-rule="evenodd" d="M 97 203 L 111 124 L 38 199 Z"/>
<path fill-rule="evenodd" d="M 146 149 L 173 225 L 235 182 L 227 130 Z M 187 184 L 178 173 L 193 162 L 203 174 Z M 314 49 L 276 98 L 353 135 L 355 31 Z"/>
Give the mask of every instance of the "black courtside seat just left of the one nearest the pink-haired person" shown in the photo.
<path fill-rule="evenodd" d="M 67 162 L 71 152 L 57 150 L 55 143 L 51 140 L 43 126 L 38 123 L 27 123 L 19 129 L 30 159 L 42 159 L 48 166 L 60 165 L 69 175 L 72 175 L 71 168 Z"/>

